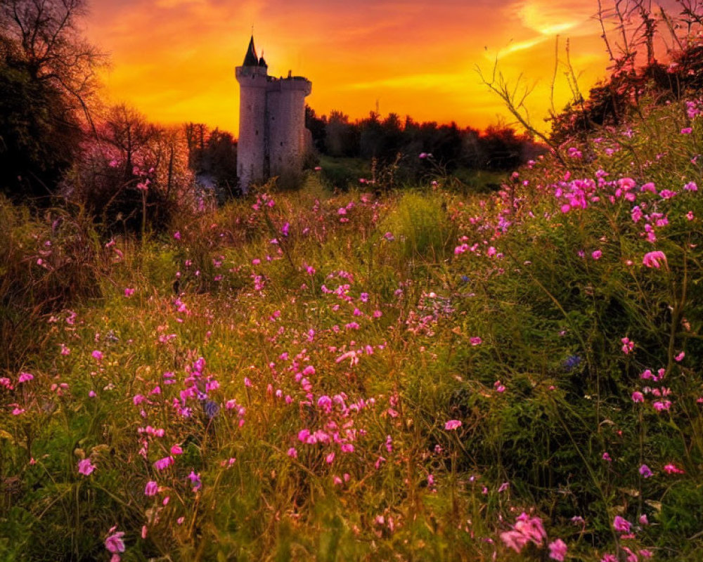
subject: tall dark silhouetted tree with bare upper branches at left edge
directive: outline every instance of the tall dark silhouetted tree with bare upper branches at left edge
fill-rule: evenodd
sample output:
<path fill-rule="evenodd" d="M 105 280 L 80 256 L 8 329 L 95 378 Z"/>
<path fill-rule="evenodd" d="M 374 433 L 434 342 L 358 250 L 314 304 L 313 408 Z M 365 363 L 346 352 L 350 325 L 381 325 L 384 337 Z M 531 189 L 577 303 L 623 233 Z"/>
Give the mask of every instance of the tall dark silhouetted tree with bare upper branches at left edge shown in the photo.
<path fill-rule="evenodd" d="M 12 195 L 47 195 L 92 124 L 102 61 L 82 39 L 84 0 L 0 2 L 0 181 Z"/>

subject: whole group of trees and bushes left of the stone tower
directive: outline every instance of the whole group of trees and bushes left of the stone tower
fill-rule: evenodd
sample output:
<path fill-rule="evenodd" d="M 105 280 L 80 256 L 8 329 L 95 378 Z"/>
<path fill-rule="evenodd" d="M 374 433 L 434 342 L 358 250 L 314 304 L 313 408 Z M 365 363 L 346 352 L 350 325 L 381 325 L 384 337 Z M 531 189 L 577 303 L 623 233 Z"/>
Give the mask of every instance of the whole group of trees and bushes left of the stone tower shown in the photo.
<path fill-rule="evenodd" d="M 107 58 L 82 37 L 86 11 L 87 0 L 0 2 L 0 194 L 84 209 L 107 236 L 164 228 L 198 209 L 202 185 L 237 195 L 230 133 L 103 103 Z"/>

